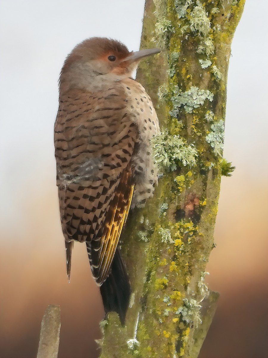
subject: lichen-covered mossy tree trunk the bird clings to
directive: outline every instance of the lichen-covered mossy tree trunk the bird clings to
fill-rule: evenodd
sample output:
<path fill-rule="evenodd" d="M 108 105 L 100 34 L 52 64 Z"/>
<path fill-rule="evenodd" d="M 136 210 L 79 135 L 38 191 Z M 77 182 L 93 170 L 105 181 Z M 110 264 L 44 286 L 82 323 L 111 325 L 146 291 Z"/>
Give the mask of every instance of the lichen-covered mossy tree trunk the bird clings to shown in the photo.
<path fill-rule="evenodd" d="M 198 357 L 218 298 L 204 275 L 220 178 L 232 171 L 222 158 L 226 83 L 244 1 L 146 1 L 141 48 L 167 50 L 140 63 L 137 81 L 158 113 L 152 146 L 164 175 L 121 234 L 133 293 L 125 326 L 115 313 L 101 322 L 100 358 Z"/>

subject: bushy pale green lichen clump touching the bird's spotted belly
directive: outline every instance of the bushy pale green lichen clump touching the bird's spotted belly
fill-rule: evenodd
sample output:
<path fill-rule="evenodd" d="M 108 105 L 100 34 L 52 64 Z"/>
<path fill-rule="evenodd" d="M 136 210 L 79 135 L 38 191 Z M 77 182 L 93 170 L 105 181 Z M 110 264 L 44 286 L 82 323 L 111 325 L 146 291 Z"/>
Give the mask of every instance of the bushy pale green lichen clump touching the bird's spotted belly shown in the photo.
<path fill-rule="evenodd" d="M 151 140 L 153 158 L 156 164 L 167 170 L 175 170 L 178 165 L 192 166 L 195 164 L 197 150 L 193 144 L 187 142 L 179 135 L 169 135 L 167 131 L 153 137 Z"/>

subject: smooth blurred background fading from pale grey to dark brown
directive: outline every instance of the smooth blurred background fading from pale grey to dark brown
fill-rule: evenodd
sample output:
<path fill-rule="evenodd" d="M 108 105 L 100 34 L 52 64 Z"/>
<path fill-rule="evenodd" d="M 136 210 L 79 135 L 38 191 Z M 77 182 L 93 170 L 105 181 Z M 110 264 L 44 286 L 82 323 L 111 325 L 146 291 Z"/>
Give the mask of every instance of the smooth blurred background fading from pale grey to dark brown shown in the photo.
<path fill-rule="evenodd" d="M 0 4 L 0 357 L 34 358 L 44 310 L 60 305 L 59 358 L 96 358 L 103 318 L 84 245 L 65 272 L 53 125 L 66 55 L 91 36 L 138 50 L 144 0 Z M 267 357 L 267 0 L 246 0 L 232 44 L 217 247 L 206 276 L 220 292 L 200 358 Z M 265 41 L 266 38 L 266 41 Z M 168 357 L 167 357 L 168 358 Z"/>

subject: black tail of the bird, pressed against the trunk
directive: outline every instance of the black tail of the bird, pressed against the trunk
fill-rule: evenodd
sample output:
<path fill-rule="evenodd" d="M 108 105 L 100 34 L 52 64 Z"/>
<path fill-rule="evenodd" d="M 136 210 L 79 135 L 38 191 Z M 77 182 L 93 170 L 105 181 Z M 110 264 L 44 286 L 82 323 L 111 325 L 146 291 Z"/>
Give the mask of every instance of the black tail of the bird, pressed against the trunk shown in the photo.
<path fill-rule="evenodd" d="M 100 286 L 100 293 L 105 313 L 117 312 L 123 325 L 129 306 L 131 288 L 128 273 L 118 248 L 115 251 L 110 274 Z"/>

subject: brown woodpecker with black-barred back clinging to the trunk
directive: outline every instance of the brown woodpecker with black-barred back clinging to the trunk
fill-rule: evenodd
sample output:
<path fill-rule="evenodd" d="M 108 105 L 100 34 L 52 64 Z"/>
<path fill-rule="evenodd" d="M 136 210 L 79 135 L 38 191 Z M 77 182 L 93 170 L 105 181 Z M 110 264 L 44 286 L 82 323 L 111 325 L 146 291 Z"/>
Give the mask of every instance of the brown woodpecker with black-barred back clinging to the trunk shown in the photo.
<path fill-rule="evenodd" d="M 105 313 L 117 312 L 122 324 L 131 287 L 118 243 L 129 210 L 153 196 L 150 139 L 160 134 L 153 103 L 132 75 L 160 51 L 89 38 L 66 57 L 59 77 L 54 142 L 68 279 L 74 241 L 85 242 Z"/>

